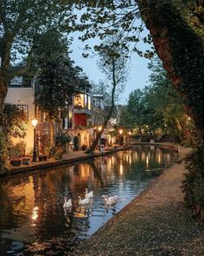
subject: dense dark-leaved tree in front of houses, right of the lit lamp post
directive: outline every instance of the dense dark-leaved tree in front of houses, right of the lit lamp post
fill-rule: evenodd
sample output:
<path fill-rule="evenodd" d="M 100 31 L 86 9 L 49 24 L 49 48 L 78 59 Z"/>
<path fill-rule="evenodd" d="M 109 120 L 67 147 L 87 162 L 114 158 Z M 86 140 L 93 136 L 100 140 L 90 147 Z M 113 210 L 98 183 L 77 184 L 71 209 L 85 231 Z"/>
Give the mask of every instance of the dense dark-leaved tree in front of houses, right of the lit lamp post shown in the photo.
<path fill-rule="evenodd" d="M 37 47 L 35 58 L 39 69 L 37 80 L 41 87 L 37 91 L 35 103 L 47 114 L 50 127 L 50 145 L 54 146 L 54 121 L 61 122 L 67 116 L 71 96 L 81 90 L 90 89 L 87 78 L 80 79 L 82 69 L 74 67 L 67 56 L 66 44 L 59 35 L 46 33 L 41 35 L 40 46 Z M 47 41 L 47 44 L 43 42 Z"/>

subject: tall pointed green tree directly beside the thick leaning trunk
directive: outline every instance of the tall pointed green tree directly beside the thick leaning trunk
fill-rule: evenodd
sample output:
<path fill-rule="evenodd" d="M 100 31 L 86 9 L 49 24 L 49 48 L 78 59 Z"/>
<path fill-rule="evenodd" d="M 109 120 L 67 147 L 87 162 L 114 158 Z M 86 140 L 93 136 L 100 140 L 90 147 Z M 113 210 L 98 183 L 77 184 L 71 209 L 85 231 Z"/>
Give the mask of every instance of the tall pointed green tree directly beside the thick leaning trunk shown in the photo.
<path fill-rule="evenodd" d="M 187 115 L 182 99 L 172 87 L 162 63 L 156 58 L 150 62 L 150 87 L 146 92 L 147 108 L 153 128 L 169 130 L 178 141 L 184 139 Z"/>

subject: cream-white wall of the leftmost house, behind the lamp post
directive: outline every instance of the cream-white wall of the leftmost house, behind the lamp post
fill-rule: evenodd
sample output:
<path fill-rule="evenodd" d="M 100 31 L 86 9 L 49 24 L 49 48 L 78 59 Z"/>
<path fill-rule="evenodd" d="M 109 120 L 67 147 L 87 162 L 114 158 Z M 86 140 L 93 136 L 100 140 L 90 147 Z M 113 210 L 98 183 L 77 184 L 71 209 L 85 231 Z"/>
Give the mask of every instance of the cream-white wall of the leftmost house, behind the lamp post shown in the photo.
<path fill-rule="evenodd" d="M 34 88 L 9 88 L 5 102 L 16 105 L 29 106 L 29 121 L 27 125 L 27 135 L 24 139 L 12 138 L 14 143 L 18 141 L 26 142 L 26 154 L 30 154 L 34 147 L 34 128 L 31 120 L 35 118 L 35 90 Z"/>

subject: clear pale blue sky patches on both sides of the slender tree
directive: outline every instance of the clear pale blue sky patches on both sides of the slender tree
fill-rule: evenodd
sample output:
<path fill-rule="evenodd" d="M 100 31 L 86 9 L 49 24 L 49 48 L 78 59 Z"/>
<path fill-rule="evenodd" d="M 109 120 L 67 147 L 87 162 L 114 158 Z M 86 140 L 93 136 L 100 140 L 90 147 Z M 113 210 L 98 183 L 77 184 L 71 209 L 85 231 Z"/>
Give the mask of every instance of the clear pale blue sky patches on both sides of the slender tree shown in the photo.
<path fill-rule="evenodd" d="M 86 42 L 94 44 L 94 40 L 91 42 Z M 104 75 L 101 73 L 97 66 L 97 56 L 84 58 L 82 56 L 83 47 L 86 43 L 81 43 L 77 36 L 73 36 L 73 44 L 70 49 L 73 50 L 73 53 L 70 54 L 71 59 L 75 62 L 76 65 L 84 69 L 84 72 L 89 77 L 91 82 L 99 82 L 100 79 L 104 79 Z M 142 46 L 143 47 L 143 46 Z M 142 48 L 141 47 L 141 48 Z M 147 64 L 149 60 L 137 56 L 136 53 L 133 53 L 131 56 L 130 62 L 130 75 L 126 86 L 124 89 L 123 95 L 120 96 L 119 102 L 125 104 L 127 102 L 128 96 L 133 89 L 143 89 L 149 80 L 150 70 L 147 69 Z"/>

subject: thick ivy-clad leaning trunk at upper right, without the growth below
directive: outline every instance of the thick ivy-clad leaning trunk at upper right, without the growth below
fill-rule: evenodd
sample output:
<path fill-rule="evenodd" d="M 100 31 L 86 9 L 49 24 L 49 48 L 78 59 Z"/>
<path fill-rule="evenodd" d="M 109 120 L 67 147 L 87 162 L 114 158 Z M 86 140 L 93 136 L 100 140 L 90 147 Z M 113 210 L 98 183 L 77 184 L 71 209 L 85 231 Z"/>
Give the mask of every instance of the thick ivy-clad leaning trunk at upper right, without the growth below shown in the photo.
<path fill-rule="evenodd" d="M 137 0 L 158 56 L 204 134 L 204 44 L 168 1 Z"/>

